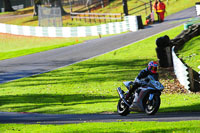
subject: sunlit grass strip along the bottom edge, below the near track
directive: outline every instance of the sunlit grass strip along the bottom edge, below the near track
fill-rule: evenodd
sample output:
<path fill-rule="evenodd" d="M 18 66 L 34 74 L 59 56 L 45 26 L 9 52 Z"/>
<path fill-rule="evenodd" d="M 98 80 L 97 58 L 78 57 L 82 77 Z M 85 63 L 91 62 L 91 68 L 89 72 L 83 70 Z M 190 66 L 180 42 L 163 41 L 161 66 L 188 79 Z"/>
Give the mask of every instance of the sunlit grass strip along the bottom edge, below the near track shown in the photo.
<path fill-rule="evenodd" d="M 200 132 L 200 121 L 180 122 L 112 122 L 112 123 L 81 123 L 65 125 L 28 125 L 28 124 L 0 124 L 0 131 L 5 133 L 13 132 L 137 132 L 137 133 L 197 133 Z"/>

